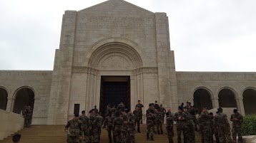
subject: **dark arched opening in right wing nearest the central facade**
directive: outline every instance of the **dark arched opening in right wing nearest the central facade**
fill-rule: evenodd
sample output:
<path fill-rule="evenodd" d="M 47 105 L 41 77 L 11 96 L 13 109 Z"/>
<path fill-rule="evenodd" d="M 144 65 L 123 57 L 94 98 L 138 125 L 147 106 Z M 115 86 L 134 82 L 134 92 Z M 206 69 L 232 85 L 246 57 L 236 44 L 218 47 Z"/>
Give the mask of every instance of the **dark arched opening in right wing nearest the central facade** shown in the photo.
<path fill-rule="evenodd" d="M 204 88 L 199 88 L 194 92 L 194 105 L 202 111 L 203 107 L 207 107 L 209 110 L 212 109 L 212 100 L 210 92 Z"/>

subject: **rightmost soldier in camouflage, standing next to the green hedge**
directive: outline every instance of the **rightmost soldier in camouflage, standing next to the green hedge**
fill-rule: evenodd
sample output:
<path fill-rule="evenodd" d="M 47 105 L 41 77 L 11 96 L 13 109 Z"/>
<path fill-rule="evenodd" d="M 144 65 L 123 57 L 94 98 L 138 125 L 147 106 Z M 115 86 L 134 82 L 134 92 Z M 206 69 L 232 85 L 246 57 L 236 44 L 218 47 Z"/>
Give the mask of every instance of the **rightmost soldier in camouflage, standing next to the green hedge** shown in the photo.
<path fill-rule="evenodd" d="M 237 140 L 238 135 L 238 143 L 242 143 L 242 122 L 243 117 L 237 111 L 237 109 L 233 110 L 234 114 L 231 115 L 230 120 L 232 121 L 232 138 L 233 143 Z"/>

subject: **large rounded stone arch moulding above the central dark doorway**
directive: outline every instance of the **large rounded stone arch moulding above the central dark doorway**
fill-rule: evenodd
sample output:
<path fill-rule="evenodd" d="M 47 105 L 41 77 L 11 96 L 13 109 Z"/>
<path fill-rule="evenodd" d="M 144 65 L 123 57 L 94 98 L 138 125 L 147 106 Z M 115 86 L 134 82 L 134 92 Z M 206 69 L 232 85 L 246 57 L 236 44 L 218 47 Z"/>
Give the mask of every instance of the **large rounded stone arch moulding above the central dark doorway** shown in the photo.
<path fill-rule="evenodd" d="M 140 48 L 137 43 L 134 43 L 127 38 L 104 38 L 101 41 L 97 41 L 89 48 L 89 51 L 85 56 L 83 62 L 85 63 L 85 66 L 97 63 L 93 62 L 93 58 L 103 58 L 103 56 L 106 55 L 104 53 L 104 51 L 106 52 L 106 48 L 115 53 L 123 53 L 124 55 L 127 55 L 128 58 L 134 58 L 132 59 L 132 62 L 136 63 L 135 65 L 141 64 L 140 66 L 149 66 L 143 49 Z M 99 57 L 97 57 L 97 55 Z M 99 61 L 99 59 L 97 61 Z"/>

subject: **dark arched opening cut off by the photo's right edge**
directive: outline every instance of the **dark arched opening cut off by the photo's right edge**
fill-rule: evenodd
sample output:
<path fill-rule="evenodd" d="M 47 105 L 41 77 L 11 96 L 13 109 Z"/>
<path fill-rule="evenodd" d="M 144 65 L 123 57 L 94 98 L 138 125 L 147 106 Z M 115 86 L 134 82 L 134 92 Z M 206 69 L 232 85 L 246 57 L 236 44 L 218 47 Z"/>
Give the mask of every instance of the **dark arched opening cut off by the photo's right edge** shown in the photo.
<path fill-rule="evenodd" d="M 255 114 L 256 90 L 253 88 L 248 88 L 243 92 L 242 97 L 245 107 L 245 114 Z"/>

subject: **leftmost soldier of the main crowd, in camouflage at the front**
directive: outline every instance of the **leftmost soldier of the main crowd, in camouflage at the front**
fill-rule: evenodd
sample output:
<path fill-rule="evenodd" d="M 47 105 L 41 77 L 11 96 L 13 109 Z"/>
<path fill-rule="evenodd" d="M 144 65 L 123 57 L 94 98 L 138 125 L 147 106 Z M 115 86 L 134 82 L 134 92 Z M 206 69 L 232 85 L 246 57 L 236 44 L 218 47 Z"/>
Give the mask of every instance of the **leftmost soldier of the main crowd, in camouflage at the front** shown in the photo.
<path fill-rule="evenodd" d="M 78 120 L 79 114 L 75 114 L 72 120 L 67 122 L 64 131 L 67 132 L 67 143 L 79 143 L 82 139 L 82 121 Z"/>

